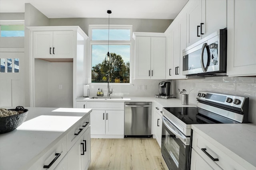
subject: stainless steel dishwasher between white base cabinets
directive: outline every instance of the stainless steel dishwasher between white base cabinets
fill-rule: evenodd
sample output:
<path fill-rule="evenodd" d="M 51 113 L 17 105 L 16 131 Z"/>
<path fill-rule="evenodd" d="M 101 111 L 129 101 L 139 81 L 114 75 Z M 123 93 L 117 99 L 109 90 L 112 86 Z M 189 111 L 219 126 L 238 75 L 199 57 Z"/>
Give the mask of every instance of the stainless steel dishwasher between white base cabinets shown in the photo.
<path fill-rule="evenodd" d="M 124 104 L 124 137 L 151 137 L 152 102 Z"/>

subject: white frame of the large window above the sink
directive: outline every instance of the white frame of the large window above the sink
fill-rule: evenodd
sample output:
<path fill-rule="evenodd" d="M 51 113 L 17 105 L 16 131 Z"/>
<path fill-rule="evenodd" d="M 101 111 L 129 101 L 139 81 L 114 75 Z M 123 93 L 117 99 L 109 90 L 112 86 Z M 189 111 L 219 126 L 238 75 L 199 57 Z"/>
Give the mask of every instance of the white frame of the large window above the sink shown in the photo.
<path fill-rule="evenodd" d="M 108 29 L 108 25 L 89 25 L 89 84 L 107 84 L 107 83 L 93 83 L 92 82 L 92 45 L 108 45 L 108 40 L 92 40 L 92 29 Z M 109 25 L 109 29 L 130 29 L 130 40 L 109 40 L 109 45 L 130 45 L 130 80 L 129 83 L 110 83 L 130 85 L 132 80 L 131 57 L 132 57 L 132 25 Z M 107 51 L 106 51 L 107 53 Z M 112 53 L 110 51 L 110 53 Z"/>

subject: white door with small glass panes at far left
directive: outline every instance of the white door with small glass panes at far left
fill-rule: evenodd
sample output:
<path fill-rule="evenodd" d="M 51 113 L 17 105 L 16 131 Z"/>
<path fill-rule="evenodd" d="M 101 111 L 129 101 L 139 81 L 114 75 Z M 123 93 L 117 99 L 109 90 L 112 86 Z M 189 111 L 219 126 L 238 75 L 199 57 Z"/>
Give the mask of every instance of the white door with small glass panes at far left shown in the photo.
<path fill-rule="evenodd" d="M 24 106 L 24 52 L 0 52 L 0 107 Z"/>

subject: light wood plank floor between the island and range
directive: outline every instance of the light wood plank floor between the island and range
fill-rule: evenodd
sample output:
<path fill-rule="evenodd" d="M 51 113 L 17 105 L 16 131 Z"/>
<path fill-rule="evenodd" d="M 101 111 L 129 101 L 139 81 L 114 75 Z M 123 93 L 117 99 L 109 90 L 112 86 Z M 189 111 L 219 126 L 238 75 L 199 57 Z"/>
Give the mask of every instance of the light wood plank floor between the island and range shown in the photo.
<path fill-rule="evenodd" d="M 89 170 L 168 170 L 153 138 L 91 139 Z"/>

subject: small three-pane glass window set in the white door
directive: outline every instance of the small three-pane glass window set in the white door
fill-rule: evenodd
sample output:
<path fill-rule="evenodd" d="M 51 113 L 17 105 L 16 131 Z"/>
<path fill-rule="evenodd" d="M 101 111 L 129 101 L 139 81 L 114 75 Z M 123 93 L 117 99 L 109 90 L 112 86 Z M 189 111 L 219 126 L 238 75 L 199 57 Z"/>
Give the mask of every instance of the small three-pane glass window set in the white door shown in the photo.
<path fill-rule="evenodd" d="M 19 72 L 19 59 L 0 59 L 0 72 Z"/>

